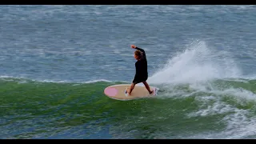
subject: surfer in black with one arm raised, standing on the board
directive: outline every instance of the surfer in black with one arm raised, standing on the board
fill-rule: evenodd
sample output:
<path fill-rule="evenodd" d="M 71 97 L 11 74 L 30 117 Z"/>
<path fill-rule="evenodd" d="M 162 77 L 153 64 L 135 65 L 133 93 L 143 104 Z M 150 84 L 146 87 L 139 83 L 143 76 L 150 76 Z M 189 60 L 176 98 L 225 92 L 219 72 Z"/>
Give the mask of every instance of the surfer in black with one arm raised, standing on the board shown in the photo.
<path fill-rule="evenodd" d="M 136 74 L 133 82 L 130 85 L 130 91 L 128 91 L 128 94 L 131 94 L 131 92 L 134 90 L 134 86 L 140 82 L 142 82 L 144 86 L 146 86 L 146 90 L 152 94 L 153 90 L 150 90 L 150 86 L 146 82 L 148 78 L 146 53 L 142 48 L 138 48 L 137 46 L 131 45 L 131 48 L 136 49 L 134 51 L 134 58 L 137 60 L 137 62 L 135 63 Z"/>

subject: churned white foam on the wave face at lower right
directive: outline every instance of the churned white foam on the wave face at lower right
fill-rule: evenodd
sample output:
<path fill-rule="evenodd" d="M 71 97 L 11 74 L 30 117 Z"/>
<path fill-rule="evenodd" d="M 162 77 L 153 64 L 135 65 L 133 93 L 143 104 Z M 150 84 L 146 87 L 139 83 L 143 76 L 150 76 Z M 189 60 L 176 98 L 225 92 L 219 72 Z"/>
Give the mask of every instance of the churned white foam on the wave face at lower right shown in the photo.
<path fill-rule="evenodd" d="M 228 93 L 232 90 L 224 90 L 222 93 Z M 216 92 L 215 92 L 216 93 Z M 234 91 L 231 93 L 234 94 Z M 216 96 L 200 96 L 195 98 L 198 102 L 198 111 L 187 114 L 190 117 L 207 117 L 218 114 L 225 114 L 219 122 L 225 124 L 224 130 L 205 131 L 199 134 L 192 134 L 189 138 L 249 138 L 256 134 L 256 117 L 250 116 L 250 110 L 240 109 L 237 106 L 222 102 L 222 97 Z M 239 101 L 238 101 L 239 102 Z M 216 123 L 218 124 L 218 123 Z"/>

